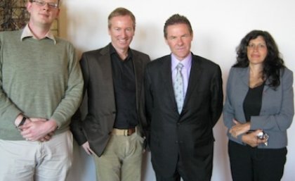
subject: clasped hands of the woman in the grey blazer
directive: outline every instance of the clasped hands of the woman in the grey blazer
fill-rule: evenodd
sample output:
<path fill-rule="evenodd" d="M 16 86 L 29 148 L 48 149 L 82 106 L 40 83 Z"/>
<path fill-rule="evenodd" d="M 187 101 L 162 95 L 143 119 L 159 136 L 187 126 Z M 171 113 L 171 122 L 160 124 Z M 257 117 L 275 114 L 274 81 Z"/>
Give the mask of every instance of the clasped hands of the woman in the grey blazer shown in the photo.
<path fill-rule="evenodd" d="M 267 142 L 267 139 L 259 139 L 257 137 L 258 133 L 262 130 L 255 130 L 253 132 L 249 132 L 250 130 L 250 123 L 240 123 L 239 121 L 233 119 L 232 120 L 235 125 L 230 128 L 230 135 L 232 137 L 237 138 L 239 135 L 242 135 L 242 142 L 249 144 L 252 147 L 256 147 L 259 144 L 264 144 Z"/>

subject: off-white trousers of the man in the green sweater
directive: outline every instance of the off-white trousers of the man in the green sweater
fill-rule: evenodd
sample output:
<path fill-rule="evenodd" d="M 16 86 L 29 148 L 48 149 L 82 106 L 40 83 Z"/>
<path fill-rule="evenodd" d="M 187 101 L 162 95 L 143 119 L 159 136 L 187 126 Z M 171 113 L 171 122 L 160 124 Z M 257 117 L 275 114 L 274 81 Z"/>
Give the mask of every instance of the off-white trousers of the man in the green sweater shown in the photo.
<path fill-rule="evenodd" d="M 0 181 L 65 181 L 72 166 L 72 133 L 48 142 L 0 139 Z"/>

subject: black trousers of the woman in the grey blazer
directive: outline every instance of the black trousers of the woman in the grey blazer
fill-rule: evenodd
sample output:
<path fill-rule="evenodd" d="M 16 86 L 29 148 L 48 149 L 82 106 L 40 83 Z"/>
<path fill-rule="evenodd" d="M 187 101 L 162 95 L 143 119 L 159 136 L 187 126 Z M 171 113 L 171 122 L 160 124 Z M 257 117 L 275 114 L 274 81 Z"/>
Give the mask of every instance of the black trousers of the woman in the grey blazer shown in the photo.
<path fill-rule="evenodd" d="M 228 154 L 233 181 L 280 181 L 287 148 L 258 149 L 229 141 Z"/>

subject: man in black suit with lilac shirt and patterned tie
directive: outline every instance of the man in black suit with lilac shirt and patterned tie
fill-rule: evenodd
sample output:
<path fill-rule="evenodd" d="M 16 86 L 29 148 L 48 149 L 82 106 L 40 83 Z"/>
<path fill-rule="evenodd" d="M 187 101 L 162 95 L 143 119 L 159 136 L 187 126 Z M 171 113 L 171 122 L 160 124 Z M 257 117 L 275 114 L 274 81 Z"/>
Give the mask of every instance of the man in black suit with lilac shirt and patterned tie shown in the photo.
<path fill-rule="evenodd" d="M 147 64 L 145 73 L 152 166 L 157 181 L 210 180 L 212 128 L 223 106 L 221 69 L 191 53 L 185 16 L 166 20 L 164 37 L 172 53 Z"/>

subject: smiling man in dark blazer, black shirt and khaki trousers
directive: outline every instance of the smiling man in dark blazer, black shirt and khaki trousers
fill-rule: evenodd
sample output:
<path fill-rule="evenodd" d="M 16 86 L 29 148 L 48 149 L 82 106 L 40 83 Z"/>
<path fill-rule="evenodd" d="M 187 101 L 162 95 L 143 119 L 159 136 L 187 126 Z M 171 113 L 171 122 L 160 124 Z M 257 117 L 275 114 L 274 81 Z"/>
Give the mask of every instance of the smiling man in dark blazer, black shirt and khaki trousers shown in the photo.
<path fill-rule="evenodd" d="M 136 20 L 117 8 L 108 17 L 111 43 L 81 57 L 86 118 L 78 111 L 71 130 L 87 154 L 93 154 L 100 181 L 140 181 L 145 114 L 143 77 L 149 56 L 129 48 Z"/>

